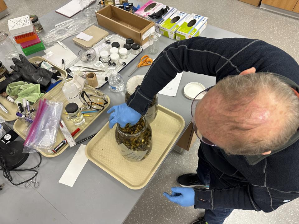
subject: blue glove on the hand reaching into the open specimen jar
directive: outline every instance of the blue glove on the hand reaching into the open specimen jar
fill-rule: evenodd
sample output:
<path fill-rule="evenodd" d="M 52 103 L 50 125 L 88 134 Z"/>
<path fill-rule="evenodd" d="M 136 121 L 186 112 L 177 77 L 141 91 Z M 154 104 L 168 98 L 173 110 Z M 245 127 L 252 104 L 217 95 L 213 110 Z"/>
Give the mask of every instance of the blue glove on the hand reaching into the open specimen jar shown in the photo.
<path fill-rule="evenodd" d="M 126 103 L 111 107 L 107 111 L 107 114 L 111 113 L 113 110 L 114 112 L 110 114 L 109 117 L 109 128 L 113 128 L 116 123 L 118 123 L 121 128 L 124 128 L 128 123 L 134 125 L 141 117 L 141 114 L 129 107 Z"/>

